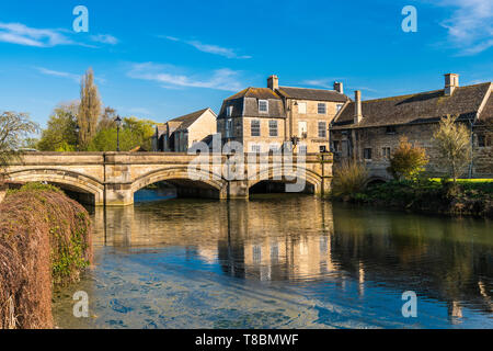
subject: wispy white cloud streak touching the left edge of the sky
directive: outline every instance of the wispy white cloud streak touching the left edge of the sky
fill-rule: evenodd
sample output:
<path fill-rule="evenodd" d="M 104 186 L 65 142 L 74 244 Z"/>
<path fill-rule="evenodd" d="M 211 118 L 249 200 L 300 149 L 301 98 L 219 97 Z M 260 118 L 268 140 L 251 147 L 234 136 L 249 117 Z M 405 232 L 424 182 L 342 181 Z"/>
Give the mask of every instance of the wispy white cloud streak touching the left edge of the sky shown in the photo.
<path fill-rule="evenodd" d="M 76 44 L 57 30 L 33 29 L 22 23 L 0 22 L 0 42 L 50 47 Z"/>

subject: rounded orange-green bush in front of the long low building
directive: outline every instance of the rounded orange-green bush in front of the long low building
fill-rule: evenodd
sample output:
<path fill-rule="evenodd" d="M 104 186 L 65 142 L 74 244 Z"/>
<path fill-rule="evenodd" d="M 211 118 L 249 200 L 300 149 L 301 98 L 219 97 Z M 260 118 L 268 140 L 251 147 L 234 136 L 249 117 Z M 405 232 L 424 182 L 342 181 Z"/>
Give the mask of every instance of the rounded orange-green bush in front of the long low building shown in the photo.
<path fill-rule="evenodd" d="M 408 141 L 408 137 L 402 136 L 398 148 L 390 157 L 388 170 L 397 180 L 415 180 L 424 171 L 426 163 L 428 159 L 425 149 L 417 145 L 413 146 Z"/>

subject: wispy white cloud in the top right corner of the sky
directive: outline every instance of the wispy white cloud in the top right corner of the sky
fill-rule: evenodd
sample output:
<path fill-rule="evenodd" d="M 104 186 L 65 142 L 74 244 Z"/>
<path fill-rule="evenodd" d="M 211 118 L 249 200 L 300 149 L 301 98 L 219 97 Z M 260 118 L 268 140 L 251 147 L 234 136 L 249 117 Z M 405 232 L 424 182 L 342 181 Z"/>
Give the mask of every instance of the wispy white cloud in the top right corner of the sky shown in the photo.
<path fill-rule="evenodd" d="M 460 55 L 475 55 L 493 46 L 492 0 L 440 0 L 435 4 L 454 9 L 440 24 Z"/>

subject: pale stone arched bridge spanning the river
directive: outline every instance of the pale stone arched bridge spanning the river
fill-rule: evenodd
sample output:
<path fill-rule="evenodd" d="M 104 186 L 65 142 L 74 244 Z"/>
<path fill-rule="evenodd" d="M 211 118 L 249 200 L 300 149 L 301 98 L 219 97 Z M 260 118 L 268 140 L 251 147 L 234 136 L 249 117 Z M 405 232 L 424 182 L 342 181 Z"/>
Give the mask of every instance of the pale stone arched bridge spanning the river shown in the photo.
<path fill-rule="evenodd" d="M 7 174 L 14 182 L 45 181 L 87 194 L 95 205 L 130 205 L 134 193 L 167 181 L 179 193 L 215 199 L 248 199 L 249 189 L 261 181 L 301 182 L 323 195 L 331 186 L 332 155 L 307 155 L 305 160 L 273 155 L 246 155 L 236 167 L 228 155 L 152 152 L 28 152 Z M 190 167 L 190 165 L 193 166 Z M 225 177 L 225 169 L 241 178 Z"/>

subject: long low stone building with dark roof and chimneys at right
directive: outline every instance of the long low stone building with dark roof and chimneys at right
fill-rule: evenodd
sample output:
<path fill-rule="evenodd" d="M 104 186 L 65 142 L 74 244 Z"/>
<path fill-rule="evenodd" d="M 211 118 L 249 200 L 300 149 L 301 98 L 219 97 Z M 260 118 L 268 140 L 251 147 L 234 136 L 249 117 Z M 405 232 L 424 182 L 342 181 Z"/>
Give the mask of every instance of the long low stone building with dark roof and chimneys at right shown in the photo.
<path fill-rule="evenodd" d="M 493 174 L 491 127 L 492 83 L 460 87 L 459 76 L 445 75 L 444 89 L 409 95 L 362 101 L 359 91 L 331 124 L 331 149 L 336 160 L 364 160 L 374 177 L 389 178 L 389 158 L 401 136 L 424 147 L 428 171 L 442 173 L 436 162 L 433 133 L 442 117 L 452 115 L 471 128 L 475 157 L 469 172 L 473 177 Z"/>

